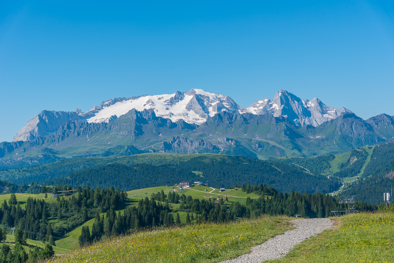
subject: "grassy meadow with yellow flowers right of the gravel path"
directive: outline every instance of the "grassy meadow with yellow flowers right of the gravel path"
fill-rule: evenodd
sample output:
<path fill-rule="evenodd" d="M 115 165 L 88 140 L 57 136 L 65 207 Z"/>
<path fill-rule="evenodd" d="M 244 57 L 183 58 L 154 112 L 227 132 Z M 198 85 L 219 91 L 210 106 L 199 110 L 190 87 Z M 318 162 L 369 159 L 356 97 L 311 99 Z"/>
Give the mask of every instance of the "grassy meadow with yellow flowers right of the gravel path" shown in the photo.
<path fill-rule="evenodd" d="M 335 228 L 269 262 L 394 262 L 393 213 L 360 213 L 336 218 L 336 222 Z"/>

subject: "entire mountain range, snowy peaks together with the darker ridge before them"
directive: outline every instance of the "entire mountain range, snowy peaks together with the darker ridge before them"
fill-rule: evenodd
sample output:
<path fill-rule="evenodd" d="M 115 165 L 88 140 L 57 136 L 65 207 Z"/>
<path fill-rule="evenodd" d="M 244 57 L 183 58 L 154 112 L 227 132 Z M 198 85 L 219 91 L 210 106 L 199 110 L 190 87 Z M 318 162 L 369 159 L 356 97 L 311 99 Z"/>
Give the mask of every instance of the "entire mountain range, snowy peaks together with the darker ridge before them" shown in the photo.
<path fill-rule="evenodd" d="M 228 96 L 191 89 L 114 98 L 85 113 L 42 111 L 15 141 L 0 144 L 0 166 L 137 152 L 310 157 L 344 153 L 393 136 L 392 116 L 363 120 L 348 109 L 329 107 L 317 98 L 301 100 L 283 90 L 272 101 L 258 100 L 243 109 Z"/>

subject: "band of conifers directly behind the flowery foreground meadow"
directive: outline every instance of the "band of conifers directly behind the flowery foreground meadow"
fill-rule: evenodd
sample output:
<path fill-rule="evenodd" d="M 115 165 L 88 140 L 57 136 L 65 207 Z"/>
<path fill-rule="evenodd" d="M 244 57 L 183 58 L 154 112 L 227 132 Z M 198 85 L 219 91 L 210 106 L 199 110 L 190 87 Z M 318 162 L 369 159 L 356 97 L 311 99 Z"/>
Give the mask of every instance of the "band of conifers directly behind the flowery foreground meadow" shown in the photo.
<path fill-rule="evenodd" d="M 234 185 L 238 187 L 238 185 Z M 259 198 L 246 198 L 246 204 L 231 202 L 228 198 L 199 199 L 185 194 L 170 191 L 165 194 L 162 190 L 142 198 L 136 206 L 128 206 L 123 214 L 114 209 L 102 215 L 97 212 L 91 229 L 84 226 L 79 237 L 81 246 L 99 241 L 102 237 L 116 237 L 120 234 L 132 233 L 141 228 L 181 226 L 178 212 L 186 212 L 186 224 L 205 222 L 230 222 L 238 218 L 255 218 L 262 214 L 300 216 L 305 218 L 322 218 L 333 216 L 333 212 L 345 210 L 344 204 L 338 204 L 339 199 L 323 193 L 290 193 L 278 192 L 274 187 L 265 184 L 251 186 L 243 184 L 241 191 L 259 194 Z M 180 204 L 179 209 L 173 210 L 171 204 Z M 375 211 L 377 206 L 356 202 L 356 210 Z"/>

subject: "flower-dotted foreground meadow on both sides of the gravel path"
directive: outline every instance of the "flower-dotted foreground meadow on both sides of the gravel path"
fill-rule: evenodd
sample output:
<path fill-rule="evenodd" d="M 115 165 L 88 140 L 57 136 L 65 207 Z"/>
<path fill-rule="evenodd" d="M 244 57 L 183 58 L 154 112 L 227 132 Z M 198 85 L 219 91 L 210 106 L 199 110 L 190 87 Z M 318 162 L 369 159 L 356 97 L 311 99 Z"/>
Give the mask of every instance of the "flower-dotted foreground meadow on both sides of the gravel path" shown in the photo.
<path fill-rule="evenodd" d="M 335 228 L 296 245 L 284 258 L 267 262 L 393 262 L 392 212 L 332 219 Z M 288 220 L 265 216 L 239 223 L 140 232 L 78 249 L 55 262 L 68 262 L 71 257 L 73 262 L 218 262 L 247 253 L 251 246 L 291 229 Z"/>

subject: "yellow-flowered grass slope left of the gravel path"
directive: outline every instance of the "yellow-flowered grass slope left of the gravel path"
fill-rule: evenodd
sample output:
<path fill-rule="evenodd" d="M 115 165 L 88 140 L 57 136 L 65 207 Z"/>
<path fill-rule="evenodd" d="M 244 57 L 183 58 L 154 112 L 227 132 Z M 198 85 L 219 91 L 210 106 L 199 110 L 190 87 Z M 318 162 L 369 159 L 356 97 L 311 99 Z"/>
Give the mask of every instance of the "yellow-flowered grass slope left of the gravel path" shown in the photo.
<path fill-rule="evenodd" d="M 55 262 L 217 262 L 290 229 L 285 217 L 140 232 L 93 244 Z"/>

